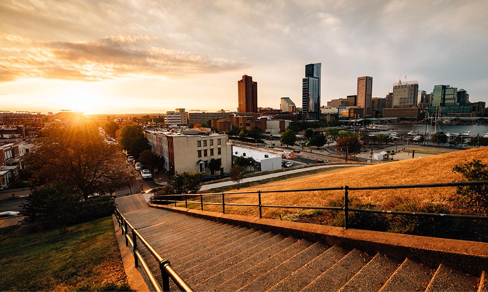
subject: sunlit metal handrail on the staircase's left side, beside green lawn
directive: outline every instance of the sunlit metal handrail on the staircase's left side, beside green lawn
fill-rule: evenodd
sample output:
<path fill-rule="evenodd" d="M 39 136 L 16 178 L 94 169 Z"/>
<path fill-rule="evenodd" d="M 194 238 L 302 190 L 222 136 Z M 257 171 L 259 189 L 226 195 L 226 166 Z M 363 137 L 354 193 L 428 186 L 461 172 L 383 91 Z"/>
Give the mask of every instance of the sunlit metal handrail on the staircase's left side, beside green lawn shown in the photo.
<path fill-rule="evenodd" d="M 152 287 L 156 292 L 162 291 L 170 291 L 169 290 L 169 278 L 173 280 L 173 283 L 180 289 L 180 291 L 186 292 L 193 292 L 190 286 L 173 270 L 171 264 L 168 260 L 165 260 L 159 253 L 147 242 L 144 237 L 139 233 L 139 231 L 134 228 L 129 221 L 122 215 L 119 208 L 115 206 L 115 215 L 117 217 L 117 221 L 119 222 L 119 227 L 122 230 L 122 234 L 125 237 L 125 246 L 132 246 L 133 254 L 134 254 L 134 262 L 135 267 L 138 267 L 139 264 L 141 265 L 144 273 L 146 274 L 147 278 L 151 282 Z M 128 235 L 128 232 L 132 233 L 132 236 Z M 151 253 L 154 259 L 159 264 L 159 270 L 161 271 L 161 278 L 163 281 L 163 287 L 157 282 L 156 278 L 152 274 L 151 270 L 149 269 L 147 263 L 144 261 L 142 255 L 139 252 L 137 247 L 137 239 L 146 247 L 146 249 Z"/>

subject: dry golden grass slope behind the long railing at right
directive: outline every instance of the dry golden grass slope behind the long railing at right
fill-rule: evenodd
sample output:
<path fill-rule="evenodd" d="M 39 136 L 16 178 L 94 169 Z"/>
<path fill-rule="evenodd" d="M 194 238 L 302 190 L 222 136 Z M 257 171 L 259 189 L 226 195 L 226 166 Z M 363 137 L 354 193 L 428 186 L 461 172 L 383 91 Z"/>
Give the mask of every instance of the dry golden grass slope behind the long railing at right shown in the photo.
<path fill-rule="evenodd" d="M 311 176 L 282 180 L 261 186 L 244 188 L 239 191 L 298 190 L 329 187 L 365 187 L 450 183 L 460 181 L 462 176 L 453 173 L 454 166 L 464 164 L 473 159 L 488 163 L 486 147 L 450 152 L 430 157 L 403 160 L 378 165 L 351 167 L 342 171 L 315 174 Z M 231 192 L 238 192 L 234 190 Z M 437 202 L 447 208 L 455 194 L 455 188 L 402 189 L 382 191 L 350 191 L 350 198 L 361 202 L 372 202 L 380 209 L 392 209 L 405 202 Z M 262 204 L 296 205 L 296 206 L 330 206 L 334 201 L 342 200 L 344 191 L 293 192 L 262 194 Z M 208 198 L 209 201 L 220 202 L 221 196 Z M 229 195 L 226 203 L 257 204 L 257 195 Z M 221 206 L 207 205 L 206 210 L 221 212 Z M 263 208 L 263 217 L 274 218 L 278 215 L 296 212 L 298 209 Z M 255 206 L 226 206 L 226 213 L 258 216 Z"/>

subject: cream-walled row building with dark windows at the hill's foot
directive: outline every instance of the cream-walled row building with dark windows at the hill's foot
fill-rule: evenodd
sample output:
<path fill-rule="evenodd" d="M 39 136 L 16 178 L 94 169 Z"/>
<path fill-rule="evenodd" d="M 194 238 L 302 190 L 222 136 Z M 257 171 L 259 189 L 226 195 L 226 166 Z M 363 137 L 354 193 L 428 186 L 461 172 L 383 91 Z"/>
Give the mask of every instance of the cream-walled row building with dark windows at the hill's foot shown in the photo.
<path fill-rule="evenodd" d="M 213 174 L 208 168 L 211 159 L 221 161 L 220 174 L 229 172 L 232 166 L 232 145 L 225 134 L 183 130 L 180 133 L 145 130 L 152 152 L 164 157 L 169 173 L 200 171 Z"/>

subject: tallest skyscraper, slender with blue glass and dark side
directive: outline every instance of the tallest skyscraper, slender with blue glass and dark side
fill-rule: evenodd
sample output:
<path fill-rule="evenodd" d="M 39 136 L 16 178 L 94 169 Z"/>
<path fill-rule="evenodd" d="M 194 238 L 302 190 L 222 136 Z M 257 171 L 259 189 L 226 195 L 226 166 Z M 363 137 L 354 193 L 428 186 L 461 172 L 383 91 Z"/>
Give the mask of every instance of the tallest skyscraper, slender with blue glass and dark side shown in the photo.
<path fill-rule="evenodd" d="M 320 71 L 322 63 L 305 65 L 302 79 L 302 119 L 320 118 Z"/>

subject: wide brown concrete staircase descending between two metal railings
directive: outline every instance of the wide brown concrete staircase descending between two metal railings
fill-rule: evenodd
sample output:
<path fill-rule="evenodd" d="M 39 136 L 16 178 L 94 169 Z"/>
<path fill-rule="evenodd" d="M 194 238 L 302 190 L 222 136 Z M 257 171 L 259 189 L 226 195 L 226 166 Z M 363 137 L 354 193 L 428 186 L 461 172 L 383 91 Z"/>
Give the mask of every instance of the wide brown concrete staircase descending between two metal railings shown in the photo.
<path fill-rule="evenodd" d="M 143 207 L 121 209 L 195 291 L 487 291 L 485 272 L 431 269 L 338 245 Z M 140 249 L 159 277 L 158 265 Z M 478 275 L 479 276 L 479 275 Z M 173 286 L 172 291 L 178 289 Z"/>

